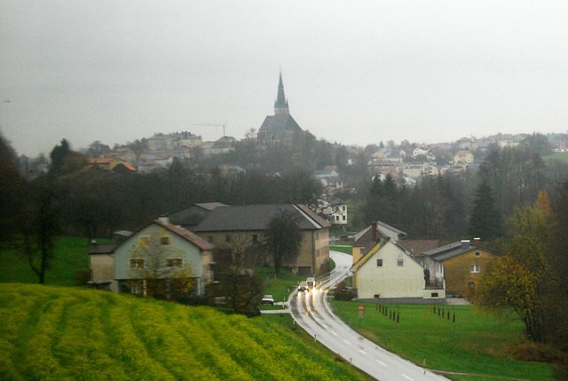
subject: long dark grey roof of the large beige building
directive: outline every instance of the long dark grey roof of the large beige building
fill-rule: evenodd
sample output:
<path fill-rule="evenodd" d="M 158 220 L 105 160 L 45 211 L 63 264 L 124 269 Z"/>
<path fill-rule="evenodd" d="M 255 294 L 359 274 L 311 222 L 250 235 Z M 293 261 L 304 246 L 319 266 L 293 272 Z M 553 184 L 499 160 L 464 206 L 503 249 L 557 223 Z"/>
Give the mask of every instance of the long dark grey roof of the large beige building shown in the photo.
<path fill-rule="evenodd" d="M 194 232 L 228 232 L 240 230 L 264 231 L 270 220 L 280 211 L 290 213 L 300 230 L 317 230 L 331 226 L 326 219 L 300 204 L 266 204 L 225 206 L 212 210 Z"/>

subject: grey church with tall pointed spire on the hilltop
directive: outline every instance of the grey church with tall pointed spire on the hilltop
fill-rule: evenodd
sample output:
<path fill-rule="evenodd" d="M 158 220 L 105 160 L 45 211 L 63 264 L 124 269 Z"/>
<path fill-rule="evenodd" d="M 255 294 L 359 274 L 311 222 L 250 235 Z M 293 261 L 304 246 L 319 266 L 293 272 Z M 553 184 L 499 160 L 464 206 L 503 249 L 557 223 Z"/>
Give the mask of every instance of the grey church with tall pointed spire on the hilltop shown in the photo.
<path fill-rule="evenodd" d="M 296 123 L 288 108 L 288 100 L 284 96 L 284 85 L 282 84 L 282 73 L 278 83 L 278 95 L 274 102 L 274 115 L 268 115 L 264 123 L 260 126 L 257 134 L 258 146 L 261 148 L 294 145 L 296 132 L 302 129 Z"/>

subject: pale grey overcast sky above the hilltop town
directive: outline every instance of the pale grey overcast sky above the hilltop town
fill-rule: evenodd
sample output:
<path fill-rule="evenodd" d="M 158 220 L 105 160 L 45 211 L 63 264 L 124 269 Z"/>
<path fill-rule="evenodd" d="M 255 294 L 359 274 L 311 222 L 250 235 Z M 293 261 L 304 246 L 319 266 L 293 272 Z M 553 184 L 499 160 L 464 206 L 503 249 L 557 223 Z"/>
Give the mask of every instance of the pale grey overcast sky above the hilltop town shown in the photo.
<path fill-rule="evenodd" d="M 349 4 L 348 4 L 349 3 Z M 568 130 L 568 3 L 0 2 L 0 132 L 18 154 L 154 132 L 242 139 L 290 114 L 346 145 Z"/>

